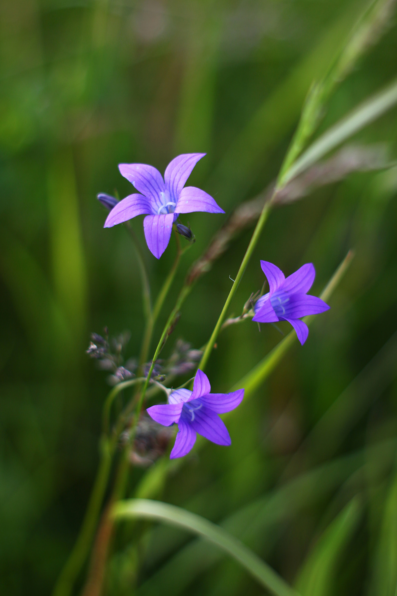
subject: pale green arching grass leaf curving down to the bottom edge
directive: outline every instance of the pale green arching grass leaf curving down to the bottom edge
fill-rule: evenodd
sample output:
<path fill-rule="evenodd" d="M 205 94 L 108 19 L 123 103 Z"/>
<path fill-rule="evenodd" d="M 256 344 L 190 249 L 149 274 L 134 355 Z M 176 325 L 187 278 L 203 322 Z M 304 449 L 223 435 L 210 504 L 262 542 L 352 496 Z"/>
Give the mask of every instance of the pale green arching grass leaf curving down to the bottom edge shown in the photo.
<path fill-rule="evenodd" d="M 276 596 L 297 596 L 297 592 L 290 588 L 255 552 L 249 550 L 237 538 L 204 517 L 168 503 L 149 499 L 119 501 L 114 505 L 113 515 L 116 519 L 143 517 L 191 530 L 232 555 L 262 586 L 276 594 Z"/>

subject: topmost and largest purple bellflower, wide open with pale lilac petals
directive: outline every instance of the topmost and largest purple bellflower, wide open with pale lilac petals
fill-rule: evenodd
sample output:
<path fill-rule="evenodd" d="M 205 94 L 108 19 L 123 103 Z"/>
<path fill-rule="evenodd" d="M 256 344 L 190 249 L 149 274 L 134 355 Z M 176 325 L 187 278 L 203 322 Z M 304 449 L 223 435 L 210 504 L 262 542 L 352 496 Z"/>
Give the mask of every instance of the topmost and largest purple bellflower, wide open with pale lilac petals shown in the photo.
<path fill-rule="evenodd" d="M 121 224 L 137 215 L 146 215 L 143 229 L 149 250 L 157 259 L 168 246 L 171 229 L 180 213 L 207 211 L 224 213 L 204 190 L 185 187 L 193 167 L 205 153 L 186 153 L 168 164 L 164 180 L 161 173 L 144 163 L 120 163 L 121 175 L 127 178 L 139 193 L 130 194 L 111 210 L 105 228 Z"/>

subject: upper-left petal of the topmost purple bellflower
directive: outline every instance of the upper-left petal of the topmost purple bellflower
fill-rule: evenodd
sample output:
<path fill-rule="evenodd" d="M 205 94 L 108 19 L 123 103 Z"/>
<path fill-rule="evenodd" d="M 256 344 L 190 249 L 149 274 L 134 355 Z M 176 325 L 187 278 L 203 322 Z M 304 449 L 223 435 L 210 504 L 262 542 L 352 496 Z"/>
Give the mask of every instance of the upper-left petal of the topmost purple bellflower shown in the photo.
<path fill-rule="evenodd" d="M 161 173 L 153 166 L 145 163 L 120 163 L 118 169 L 124 178 L 127 178 L 137 191 L 144 194 L 157 207 L 152 208 L 151 213 L 157 213 L 163 201 L 160 193 L 164 193 L 165 184 Z"/>

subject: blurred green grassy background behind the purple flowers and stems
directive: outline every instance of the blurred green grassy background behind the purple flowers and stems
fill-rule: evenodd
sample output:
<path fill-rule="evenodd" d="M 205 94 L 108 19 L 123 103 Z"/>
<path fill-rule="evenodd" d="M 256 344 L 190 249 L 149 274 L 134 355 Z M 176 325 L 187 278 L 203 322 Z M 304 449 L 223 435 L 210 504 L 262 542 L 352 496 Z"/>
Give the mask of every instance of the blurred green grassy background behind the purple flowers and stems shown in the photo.
<path fill-rule="evenodd" d="M 196 243 L 183 256 L 154 350 L 187 267 L 227 215 L 276 177 L 312 80 L 365 5 L 0 2 L 2 594 L 49 594 L 82 522 L 109 390 L 107 373 L 85 354 L 90 331 L 129 329 L 127 356 L 139 353 L 135 253 L 122 226 L 103 229 L 107 213 L 96 194 L 130 194 L 120 162 L 164 172 L 179 153 L 207 153 L 189 184 L 214 196 L 226 216 L 180 218 Z M 333 95 L 321 131 L 392 80 L 396 57 L 392 15 Z M 354 142 L 382 142 L 395 159 L 396 108 Z M 205 446 L 159 495 L 224 524 L 302 594 L 395 595 L 396 193 L 397 168 L 387 167 L 271 213 L 235 315 L 263 283 L 259 259 L 286 275 L 313 262 L 314 294 L 350 248 L 354 262 L 304 347 L 293 347 L 230 417 L 232 446 Z M 156 294 L 174 240 L 156 260 L 141 219 L 132 226 Z M 165 355 L 178 337 L 197 348 L 210 337 L 250 237 L 251 229 L 243 232 L 199 280 Z M 207 367 L 212 390 L 229 390 L 280 337 L 251 322 L 225 330 Z M 131 494 L 141 476 L 133 471 Z M 249 507 L 257 513 L 248 523 Z M 263 593 L 237 563 L 187 533 L 142 524 L 136 535 L 139 542 L 114 545 L 108 594 L 132 595 L 137 586 L 142 596 Z"/>

